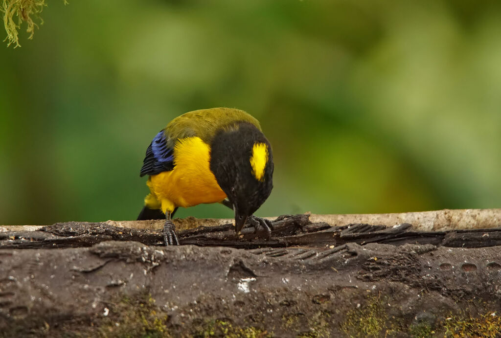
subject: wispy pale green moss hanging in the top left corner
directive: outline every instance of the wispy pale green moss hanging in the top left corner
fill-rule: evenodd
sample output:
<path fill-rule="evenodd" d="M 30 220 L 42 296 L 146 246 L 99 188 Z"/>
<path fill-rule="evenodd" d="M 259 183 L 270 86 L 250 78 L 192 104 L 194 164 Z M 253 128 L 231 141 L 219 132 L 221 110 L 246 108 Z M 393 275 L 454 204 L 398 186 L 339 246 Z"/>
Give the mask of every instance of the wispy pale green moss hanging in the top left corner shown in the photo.
<path fill-rule="evenodd" d="M 7 38 L 4 41 L 8 41 L 7 46 L 15 44 L 15 47 L 20 47 L 18 29 L 21 28 L 21 24 L 26 22 L 28 28 L 26 32 L 30 35 L 28 39 L 32 39 L 35 34 L 35 28 L 38 25 L 35 20 L 39 20 L 40 24 L 43 24 L 42 18 L 40 18 L 40 13 L 45 6 L 45 0 L 3 0 L 2 12 L 4 12 L 4 26 L 7 32 Z M 63 0 L 67 4 L 67 0 Z"/>

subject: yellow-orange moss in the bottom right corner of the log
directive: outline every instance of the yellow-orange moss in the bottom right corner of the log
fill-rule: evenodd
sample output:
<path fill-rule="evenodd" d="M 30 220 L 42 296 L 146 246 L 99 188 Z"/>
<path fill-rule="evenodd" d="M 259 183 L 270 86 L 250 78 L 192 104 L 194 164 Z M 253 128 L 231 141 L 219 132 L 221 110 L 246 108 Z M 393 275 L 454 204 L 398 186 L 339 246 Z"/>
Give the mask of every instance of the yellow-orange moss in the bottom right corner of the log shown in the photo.
<path fill-rule="evenodd" d="M 446 337 L 498 337 L 501 334 L 499 313 L 487 312 L 478 317 L 464 313 L 451 315 L 442 321 Z"/>

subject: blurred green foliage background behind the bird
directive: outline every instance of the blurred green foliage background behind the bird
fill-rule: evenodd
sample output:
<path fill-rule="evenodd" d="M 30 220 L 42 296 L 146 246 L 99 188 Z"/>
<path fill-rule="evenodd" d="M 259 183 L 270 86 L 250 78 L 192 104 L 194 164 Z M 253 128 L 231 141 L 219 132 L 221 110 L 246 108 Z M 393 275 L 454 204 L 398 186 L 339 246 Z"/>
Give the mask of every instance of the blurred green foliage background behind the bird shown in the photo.
<path fill-rule="evenodd" d="M 0 224 L 135 219 L 152 137 L 219 106 L 273 145 L 258 215 L 501 205 L 499 1 L 48 5 L 0 45 Z"/>

